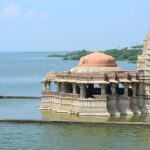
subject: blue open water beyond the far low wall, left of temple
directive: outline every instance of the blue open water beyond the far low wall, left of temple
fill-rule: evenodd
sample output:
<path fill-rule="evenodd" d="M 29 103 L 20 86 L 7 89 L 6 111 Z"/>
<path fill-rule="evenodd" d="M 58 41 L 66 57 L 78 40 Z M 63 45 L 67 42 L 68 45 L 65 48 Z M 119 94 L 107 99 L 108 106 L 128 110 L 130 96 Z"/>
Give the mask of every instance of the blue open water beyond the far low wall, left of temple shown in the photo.
<path fill-rule="evenodd" d="M 0 53 L 0 94 L 32 95 L 41 93 L 41 81 L 50 70 L 62 71 L 77 61 L 48 58 L 47 53 Z"/>

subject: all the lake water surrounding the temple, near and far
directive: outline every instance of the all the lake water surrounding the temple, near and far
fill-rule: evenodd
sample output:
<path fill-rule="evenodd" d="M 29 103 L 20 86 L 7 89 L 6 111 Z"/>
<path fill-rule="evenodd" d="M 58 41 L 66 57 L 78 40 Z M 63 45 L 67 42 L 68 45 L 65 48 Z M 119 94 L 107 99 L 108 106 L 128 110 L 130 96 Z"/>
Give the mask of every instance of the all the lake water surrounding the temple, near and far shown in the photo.
<path fill-rule="evenodd" d="M 50 70 L 69 70 L 78 61 L 48 58 L 47 53 L 0 53 L 0 95 L 40 96 L 41 80 Z M 117 62 L 126 70 L 136 65 Z M 90 118 L 40 111 L 40 99 L 0 100 L 0 119 L 71 121 L 136 121 L 136 117 Z M 93 119 L 93 120 L 92 120 Z M 141 117 L 149 122 L 149 117 Z M 146 126 L 87 123 L 17 124 L 0 123 L 2 150 L 149 150 L 150 128 Z"/>

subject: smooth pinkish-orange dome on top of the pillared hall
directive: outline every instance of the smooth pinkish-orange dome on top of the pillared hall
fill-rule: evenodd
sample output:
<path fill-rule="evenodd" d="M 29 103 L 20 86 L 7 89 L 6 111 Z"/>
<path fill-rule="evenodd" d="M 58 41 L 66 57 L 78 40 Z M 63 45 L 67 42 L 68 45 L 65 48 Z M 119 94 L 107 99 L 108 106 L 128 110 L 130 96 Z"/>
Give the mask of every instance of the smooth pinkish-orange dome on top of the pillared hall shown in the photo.
<path fill-rule="evenodd" d="M 112 56 L 101 52 L 94 52 L 80 59 L 79 66 L 85 67 L 117 67 Z"/>

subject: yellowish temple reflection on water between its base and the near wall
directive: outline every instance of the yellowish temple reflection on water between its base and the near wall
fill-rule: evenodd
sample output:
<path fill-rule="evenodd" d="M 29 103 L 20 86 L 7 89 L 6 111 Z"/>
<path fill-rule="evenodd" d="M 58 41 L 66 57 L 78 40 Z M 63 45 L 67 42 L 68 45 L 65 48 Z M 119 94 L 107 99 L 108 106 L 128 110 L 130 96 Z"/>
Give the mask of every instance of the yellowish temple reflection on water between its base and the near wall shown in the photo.
<path fill-rule="evenodd" d="M 57 113 L 50 110 L 41 110 L 41 119 L 46 121 L 68 121 L 68 122 L 134 122 L 150 123 L 150 115 L 142 116 L 76 116 L 74 114 Z"/>

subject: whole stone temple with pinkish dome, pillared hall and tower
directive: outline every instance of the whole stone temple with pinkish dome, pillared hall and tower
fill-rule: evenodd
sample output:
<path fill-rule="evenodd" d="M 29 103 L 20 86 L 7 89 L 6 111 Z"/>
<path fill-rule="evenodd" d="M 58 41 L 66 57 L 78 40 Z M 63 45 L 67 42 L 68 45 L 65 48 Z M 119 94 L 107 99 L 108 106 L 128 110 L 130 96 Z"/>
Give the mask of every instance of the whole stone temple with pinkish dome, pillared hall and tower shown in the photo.
<path fill-rule="evenodd" d="M 137 71 L 94 52 L 69 71 L 49 72 L 42 81 L 40 109 L 76 115 L 143 115 L 150 113 L 150 32 L 139 55 Z M 51 85 L 56 85 L 56 91 Z"/>

